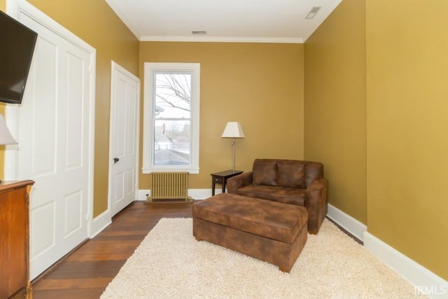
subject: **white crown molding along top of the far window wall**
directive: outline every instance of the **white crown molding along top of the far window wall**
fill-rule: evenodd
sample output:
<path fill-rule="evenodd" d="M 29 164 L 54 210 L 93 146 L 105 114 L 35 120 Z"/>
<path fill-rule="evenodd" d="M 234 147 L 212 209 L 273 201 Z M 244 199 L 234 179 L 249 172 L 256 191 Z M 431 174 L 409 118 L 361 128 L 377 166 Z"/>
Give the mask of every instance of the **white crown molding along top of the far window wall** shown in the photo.
<path fill-rule="evenodd" d="M 233 36 L 141 36 L 140 41 L 181 41 L 204 43 L 304 43 L 300 38 L 265 38 Z"/>

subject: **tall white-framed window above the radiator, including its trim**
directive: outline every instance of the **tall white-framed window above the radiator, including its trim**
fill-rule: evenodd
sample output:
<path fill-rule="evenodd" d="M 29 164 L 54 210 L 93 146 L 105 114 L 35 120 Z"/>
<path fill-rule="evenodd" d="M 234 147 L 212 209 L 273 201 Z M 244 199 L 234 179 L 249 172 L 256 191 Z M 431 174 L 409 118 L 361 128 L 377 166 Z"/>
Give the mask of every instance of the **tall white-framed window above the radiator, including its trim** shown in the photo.
<path fill-rule="evenodd" d="M 143 173 L 199 173 L 200 64 L 144 64 Z"/>

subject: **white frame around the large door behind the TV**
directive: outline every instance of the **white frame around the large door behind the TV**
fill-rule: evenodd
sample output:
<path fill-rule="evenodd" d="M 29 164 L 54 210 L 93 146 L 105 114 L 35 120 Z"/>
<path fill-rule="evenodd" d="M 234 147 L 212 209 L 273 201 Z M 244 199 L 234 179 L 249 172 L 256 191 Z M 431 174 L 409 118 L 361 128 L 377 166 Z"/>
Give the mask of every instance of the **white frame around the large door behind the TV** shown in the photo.
<path fill-rule="evenodd" d="M 70 32 L 68 29 L 59 25 L 55 20 L 52 20 L 48 15 L 42 13 L 37 8 L 29 4 L 25 0 L 6 0 L 6 13 L 17 19 L 20 13 L 24 13 L 29 18 L 35 20 L 43 27 L 61 36 L 66 41 L 73 43 L 73 45 L 82 48 L 85 52 L 90 53 L 90 90 L 89 90 L 89 187 L 87 195 L 87 236 L 92 237 L 92 218 L 93 218 L 93 170 L 94 170 L 94 118 L 95 118 L 95 77 L 96 77 L 96 50 L 88 43 L 85 43 L 78 36 Z M 19 132 L 19 106 L 6 104 L 6 123 L 13 136 L 18 136 Z M 18 148 L 20 144 L 14 146 L 7 146 L 5 151 L 5 179 L 18 180 L 27 179 L 18 177 Z M 32 188 L 31 188 L 32 192 Z"/>

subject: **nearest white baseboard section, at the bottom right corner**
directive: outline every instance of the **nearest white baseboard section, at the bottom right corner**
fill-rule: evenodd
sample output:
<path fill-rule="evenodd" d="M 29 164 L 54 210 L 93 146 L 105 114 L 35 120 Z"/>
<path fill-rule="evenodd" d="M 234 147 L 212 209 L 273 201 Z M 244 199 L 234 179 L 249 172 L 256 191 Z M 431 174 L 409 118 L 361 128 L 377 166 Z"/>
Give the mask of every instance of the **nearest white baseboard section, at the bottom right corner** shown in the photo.
<path fill-rule="evenodd" d="M 364 232 L 364 246 L 415 287 L 416 294 L 430 298 L 448 298 L 448 281 L 438 277 L 369 232 Z"/>

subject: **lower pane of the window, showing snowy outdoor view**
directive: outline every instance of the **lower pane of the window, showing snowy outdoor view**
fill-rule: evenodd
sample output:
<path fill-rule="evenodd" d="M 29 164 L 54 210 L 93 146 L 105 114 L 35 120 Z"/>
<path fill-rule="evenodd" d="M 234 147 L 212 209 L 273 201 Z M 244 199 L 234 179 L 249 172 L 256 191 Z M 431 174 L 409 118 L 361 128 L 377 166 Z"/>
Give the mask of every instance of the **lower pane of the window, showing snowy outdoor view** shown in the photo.
<path fill-rule="evenodd" d="M 190 120 L 155 120 L 154 164 L 190 164 Z"/>

